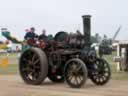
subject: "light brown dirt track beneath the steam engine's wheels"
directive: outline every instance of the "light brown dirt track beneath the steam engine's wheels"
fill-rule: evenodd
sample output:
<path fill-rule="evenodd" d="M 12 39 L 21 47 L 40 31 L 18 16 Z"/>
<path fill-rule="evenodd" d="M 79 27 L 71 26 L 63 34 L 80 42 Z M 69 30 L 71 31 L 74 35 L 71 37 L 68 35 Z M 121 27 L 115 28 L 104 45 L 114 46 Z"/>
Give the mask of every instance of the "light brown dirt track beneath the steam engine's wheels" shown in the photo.
<path fill-rule="evenodd" d="M 1 75 L 0 96 L 128 96 L 128 81 L 111 80 L 105 86 L 95 86 L 88 80 L 83 88 L 72 89 L 48 80 L 40 86 L 31 86 L 18 75 Z"/>

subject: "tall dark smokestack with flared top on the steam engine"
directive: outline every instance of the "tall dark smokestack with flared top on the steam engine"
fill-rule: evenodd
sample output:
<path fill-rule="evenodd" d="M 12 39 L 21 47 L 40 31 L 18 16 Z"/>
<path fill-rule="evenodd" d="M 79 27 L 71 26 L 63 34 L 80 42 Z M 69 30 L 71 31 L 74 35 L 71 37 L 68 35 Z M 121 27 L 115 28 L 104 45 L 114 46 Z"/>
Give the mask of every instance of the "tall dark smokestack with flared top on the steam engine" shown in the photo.
<path fill-rule="evenodd" d="M 91 46 L 91 15 L 83 15 L 83 31 L 85 36 L 85 46 Z"/>

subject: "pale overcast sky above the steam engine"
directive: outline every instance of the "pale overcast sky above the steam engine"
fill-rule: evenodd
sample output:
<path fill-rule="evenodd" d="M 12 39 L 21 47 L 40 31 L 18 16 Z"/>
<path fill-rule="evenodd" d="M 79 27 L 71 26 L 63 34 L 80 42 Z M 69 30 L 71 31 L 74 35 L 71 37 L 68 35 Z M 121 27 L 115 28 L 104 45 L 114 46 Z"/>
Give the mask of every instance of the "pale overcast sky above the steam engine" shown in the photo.
<path fill-rule="evenodd" d="M 116 39 L 128 40 L 128 0 L 0 0 L 0 27 L 7 27 L 12 35 L 22 39 L 24 30 L 35 27 L 40 34 L 60 30 L 83 32 L 82 15 L 92 15 L 92 34 L 113 37 L 120 25 Z"/>

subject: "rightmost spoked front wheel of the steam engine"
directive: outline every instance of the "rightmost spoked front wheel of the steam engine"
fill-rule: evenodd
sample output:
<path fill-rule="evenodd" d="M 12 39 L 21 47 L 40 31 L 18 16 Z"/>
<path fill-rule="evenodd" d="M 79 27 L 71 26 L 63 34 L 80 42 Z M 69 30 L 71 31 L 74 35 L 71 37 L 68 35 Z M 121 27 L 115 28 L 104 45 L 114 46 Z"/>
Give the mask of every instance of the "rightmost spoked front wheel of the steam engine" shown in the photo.
<path fill-rule="evenodd" d="M 94 64 L 94 69 L 90 75 L 90 79 L 96 85 L 106 84 L 111 77 L 110 66 L 104 59 L 97 59 Z"/>

